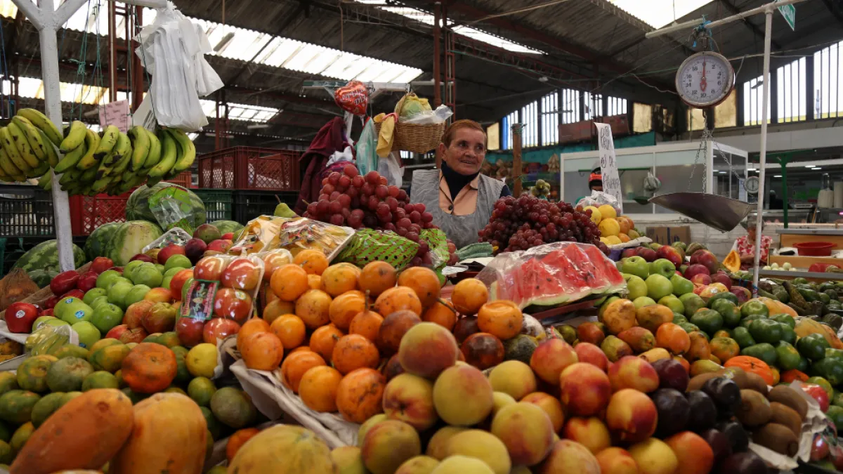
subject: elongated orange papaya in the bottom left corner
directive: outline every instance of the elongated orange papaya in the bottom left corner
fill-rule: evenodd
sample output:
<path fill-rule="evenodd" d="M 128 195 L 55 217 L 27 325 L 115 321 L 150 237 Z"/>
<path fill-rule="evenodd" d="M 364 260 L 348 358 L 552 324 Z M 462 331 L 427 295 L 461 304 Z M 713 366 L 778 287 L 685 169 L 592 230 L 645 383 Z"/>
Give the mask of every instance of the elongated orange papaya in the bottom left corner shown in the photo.
<path fill-rule="evenodd" d="M 132 434 L 133 417 L 132 401 L 120 391 L 86 391 L 41 424 L 15 457 L 9 474 L 100 469 Z"/>

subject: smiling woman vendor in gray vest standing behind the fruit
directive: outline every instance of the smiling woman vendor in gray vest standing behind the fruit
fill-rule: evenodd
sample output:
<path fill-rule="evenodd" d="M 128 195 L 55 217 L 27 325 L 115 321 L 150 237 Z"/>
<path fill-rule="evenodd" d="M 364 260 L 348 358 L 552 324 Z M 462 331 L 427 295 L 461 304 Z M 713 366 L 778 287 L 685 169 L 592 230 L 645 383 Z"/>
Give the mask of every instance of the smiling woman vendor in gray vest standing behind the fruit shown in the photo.
<path fill-rule="evenodd" d="M 439 143 L 442 170 L 413 173 L 411 202 L 421 202 L 433 214 L 433 224 L 448 235 L 457 248 L 477 241 L 477 233 L 489 224 L 495 202 L 512 196 L 500 180 L 481 175 L 486 159 L 486 132 L 475 121 L 454 121 Z"/>

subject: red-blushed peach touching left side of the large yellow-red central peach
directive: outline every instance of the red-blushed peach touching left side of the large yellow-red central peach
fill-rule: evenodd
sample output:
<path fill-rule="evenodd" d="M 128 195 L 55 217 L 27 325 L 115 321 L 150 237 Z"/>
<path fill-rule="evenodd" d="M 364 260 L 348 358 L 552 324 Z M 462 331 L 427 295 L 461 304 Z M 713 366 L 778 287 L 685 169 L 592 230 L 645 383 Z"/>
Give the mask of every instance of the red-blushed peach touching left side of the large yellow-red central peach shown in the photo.
<path fill-rule="evenodd" d="M 419 431 L 432 427 L 439 419 L 433 407 L 433 384 L 413 374 L 389 380 L 384 389 L 384 413 Z"/>

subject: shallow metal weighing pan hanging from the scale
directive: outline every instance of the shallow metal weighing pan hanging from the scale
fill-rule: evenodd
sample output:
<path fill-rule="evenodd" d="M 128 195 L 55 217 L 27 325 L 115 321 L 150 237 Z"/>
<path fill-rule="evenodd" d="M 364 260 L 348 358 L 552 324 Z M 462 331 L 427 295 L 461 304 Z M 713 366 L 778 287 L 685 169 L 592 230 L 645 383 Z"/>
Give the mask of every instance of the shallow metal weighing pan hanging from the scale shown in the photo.
<path fill-rule="evenodd" d="M 667 207 L 722 232 L 737 227 L 754 207 L 747 202 L 704 192 L 671 192 L 651 197 L 649 202 Z"/>

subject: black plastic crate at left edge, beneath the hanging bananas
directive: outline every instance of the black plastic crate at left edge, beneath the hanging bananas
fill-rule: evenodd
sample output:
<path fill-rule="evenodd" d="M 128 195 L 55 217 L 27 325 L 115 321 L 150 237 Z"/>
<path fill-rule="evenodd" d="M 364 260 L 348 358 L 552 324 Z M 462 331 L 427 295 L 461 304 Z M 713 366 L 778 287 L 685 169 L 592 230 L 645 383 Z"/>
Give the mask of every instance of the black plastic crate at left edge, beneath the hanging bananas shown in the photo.
<path fill-rule="evenodd" d="M 0 236 L 55 235 L 55 222 L 50 191 L 0 185 Z"/>

